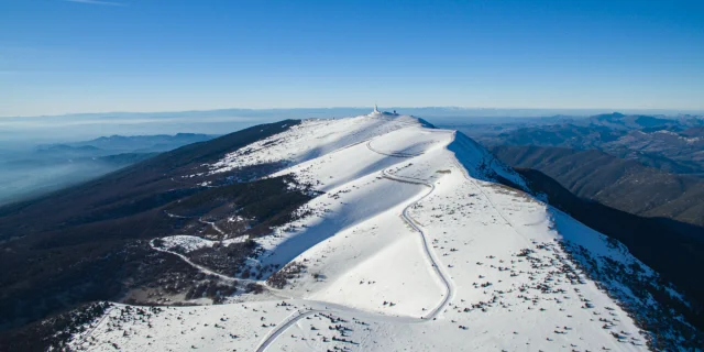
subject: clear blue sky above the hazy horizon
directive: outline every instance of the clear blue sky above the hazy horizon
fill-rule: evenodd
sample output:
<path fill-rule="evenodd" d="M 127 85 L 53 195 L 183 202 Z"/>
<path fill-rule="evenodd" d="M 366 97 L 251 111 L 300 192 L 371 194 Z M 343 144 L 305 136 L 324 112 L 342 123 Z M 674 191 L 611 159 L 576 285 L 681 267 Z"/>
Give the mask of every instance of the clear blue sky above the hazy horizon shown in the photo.
<path fill-rule="evenodd" d="M 704 109 L 704 1 L 0 0 L 0 116 Z"/>

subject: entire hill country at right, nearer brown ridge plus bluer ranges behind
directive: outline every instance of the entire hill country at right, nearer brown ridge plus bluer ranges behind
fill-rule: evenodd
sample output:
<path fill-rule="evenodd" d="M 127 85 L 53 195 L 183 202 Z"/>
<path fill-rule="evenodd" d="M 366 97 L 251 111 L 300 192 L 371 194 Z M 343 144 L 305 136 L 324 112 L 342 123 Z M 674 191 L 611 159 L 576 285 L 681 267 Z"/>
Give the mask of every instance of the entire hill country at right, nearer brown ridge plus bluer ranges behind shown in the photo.
<path fill-rule="evenodd" d="M 704 120 L 608 113 L 455 125 L 502 161 L 578 197 L 704 226 Z"/>

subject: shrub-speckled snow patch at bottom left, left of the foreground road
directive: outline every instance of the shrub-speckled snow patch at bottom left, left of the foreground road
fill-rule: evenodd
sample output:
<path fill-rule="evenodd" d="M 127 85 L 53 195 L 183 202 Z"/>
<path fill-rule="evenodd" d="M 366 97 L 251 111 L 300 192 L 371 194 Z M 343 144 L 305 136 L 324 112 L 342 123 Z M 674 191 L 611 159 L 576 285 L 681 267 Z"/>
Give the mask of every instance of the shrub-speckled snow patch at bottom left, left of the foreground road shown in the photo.
<path fill-rule="evenodd" d="M 142 312 L 140 312 L 142 310 Z M 253 351 L 279 321 L 296 312 L 280 301 L 195 307 L 116 305 L 76 350 Z"/>

